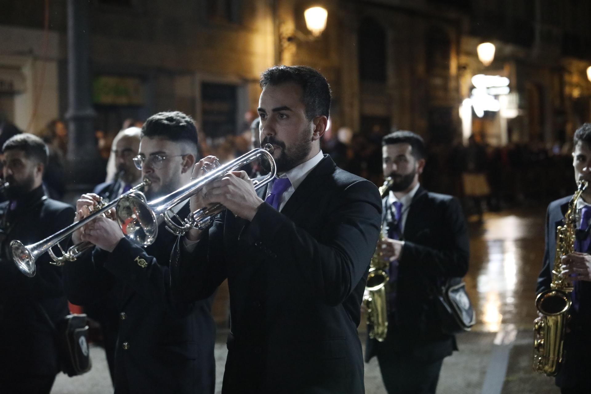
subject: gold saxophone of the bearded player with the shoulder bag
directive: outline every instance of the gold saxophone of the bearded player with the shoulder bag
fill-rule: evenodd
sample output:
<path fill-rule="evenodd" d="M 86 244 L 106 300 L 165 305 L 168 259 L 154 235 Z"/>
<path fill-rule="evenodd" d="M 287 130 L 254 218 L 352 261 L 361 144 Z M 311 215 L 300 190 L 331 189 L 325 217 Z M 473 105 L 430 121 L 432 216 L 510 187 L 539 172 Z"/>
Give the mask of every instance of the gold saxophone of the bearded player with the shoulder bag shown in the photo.
<path fill-rule="evenodd" d="M 392 185 L 392 178 L 388 177 L 384 185 L 379 188 L 379 194 L 384 198 Z M 379 233 L 379 243 L 385 239 L 384 226 Z M 382 342 L 388 333 L 388 310 L 386 308 L 386 285 L 388 284 L 389 260 L 384 258 L 382 250 L 376 248 L 369 263 L 369 275 L 365 289 L 367 295 L 363 296 L 363 305 L 368 310 L 367 324 L 369 325 L 369 337 Z"/>

